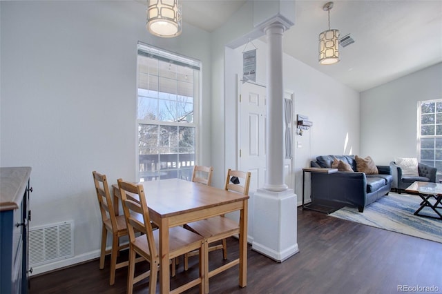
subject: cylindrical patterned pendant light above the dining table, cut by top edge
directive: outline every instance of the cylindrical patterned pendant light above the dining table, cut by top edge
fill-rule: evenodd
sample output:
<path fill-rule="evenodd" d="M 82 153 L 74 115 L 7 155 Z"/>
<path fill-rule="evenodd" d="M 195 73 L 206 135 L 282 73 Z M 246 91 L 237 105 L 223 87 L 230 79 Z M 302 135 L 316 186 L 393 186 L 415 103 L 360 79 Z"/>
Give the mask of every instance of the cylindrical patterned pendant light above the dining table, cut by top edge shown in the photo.
<path fill-rule="evenodd" d="M 164 38 L 181 34 L 181 6 L 178 0 L 147 0 L 146 28 Z"/>

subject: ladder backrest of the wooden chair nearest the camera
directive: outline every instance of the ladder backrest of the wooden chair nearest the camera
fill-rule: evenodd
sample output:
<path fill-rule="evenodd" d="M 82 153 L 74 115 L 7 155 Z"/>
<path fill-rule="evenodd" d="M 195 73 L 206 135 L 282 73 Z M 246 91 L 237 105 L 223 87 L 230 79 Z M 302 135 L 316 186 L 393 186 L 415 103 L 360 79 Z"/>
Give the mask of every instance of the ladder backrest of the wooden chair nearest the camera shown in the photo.
<path fill-rule="evenodd" d="M 146 235 L 151 257 L 156 257 L 157 249 L 143 185 L 124 182 L 122 179 L 118 179 L 117 182 L 122 197 L 129 241 L 135 242 L 135 232 L 141 232 Z"/>

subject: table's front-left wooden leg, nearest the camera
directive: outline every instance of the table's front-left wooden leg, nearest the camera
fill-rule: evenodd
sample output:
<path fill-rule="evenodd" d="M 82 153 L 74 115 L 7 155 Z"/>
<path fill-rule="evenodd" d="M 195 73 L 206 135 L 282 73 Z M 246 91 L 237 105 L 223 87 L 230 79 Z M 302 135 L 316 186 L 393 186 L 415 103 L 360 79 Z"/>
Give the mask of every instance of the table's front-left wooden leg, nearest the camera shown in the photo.
<path fill-rule="evenodd" d="M 169 219 L 162 218 L 160 230 L 160 293 L 169 293 L 171 282 L 169 273 Z"/>

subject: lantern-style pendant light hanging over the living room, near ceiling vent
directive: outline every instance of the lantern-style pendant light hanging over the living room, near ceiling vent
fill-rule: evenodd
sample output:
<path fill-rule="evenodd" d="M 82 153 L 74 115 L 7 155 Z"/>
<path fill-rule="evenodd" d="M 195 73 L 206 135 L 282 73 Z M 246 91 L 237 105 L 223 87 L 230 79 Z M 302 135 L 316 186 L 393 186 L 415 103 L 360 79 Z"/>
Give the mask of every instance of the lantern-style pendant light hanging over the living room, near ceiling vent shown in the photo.
<path fill-rule="evenodd" d="M 319 34 L 319 63 L 333 64 L 339 61 L 339 30 L 330 29 L 330 10 L 333 2 L 327 2 L 323 10 L 329 12 L 329 29 Z"/>

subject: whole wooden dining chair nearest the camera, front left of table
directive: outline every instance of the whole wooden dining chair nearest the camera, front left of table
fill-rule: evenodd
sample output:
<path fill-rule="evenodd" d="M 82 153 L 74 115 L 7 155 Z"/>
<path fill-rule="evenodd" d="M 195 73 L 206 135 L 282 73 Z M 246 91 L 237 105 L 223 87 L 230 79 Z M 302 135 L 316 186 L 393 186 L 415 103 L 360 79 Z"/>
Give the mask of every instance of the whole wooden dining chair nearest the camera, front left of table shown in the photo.
<path fill-rule="evenodd" d="M 127 293 L 133 293 L 133 285 L 146 277 L 149 277 L 149 293 L 153 294 L 157 286 L 157 271 L 160 265 L 159 241 L 160 231 L 153 231 L 151 219 L 148 212 L 148 204 L 144 187 L 142 184 L 133 184 L 118 179 L 118 187 L 122 197 L 124 216 L 129 235 L 129 266 Z M 140 222 L 140 219 L 142 221 Z M 140 231 L 142 235 L 136 236 L 135 232 Z M 200 285 L 200 293 L 204 292 L 204 237 L 191 231 L 175 226 L 169 228 L 169 259 L 184 255 L 189 251 L 200 252 L 200 275 L 198 278 L 175 288 L 171 293 L 182 293 L 193 286 Z M 135 277 L 135 256 L 140 255 L 150 264 L 149 271 Z"/>

